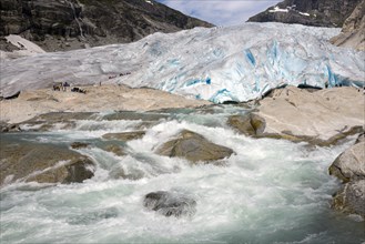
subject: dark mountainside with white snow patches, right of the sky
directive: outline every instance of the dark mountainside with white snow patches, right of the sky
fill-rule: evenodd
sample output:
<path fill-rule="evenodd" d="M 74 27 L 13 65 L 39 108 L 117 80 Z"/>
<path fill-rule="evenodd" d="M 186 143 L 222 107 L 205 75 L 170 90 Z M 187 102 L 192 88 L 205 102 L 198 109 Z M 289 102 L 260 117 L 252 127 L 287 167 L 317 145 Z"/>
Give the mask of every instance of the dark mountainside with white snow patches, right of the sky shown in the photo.
<path fill-rule="evenodd" d="M 250 22 L 342 27 L 362 0 L 285 0 L 249 19 Z"/>

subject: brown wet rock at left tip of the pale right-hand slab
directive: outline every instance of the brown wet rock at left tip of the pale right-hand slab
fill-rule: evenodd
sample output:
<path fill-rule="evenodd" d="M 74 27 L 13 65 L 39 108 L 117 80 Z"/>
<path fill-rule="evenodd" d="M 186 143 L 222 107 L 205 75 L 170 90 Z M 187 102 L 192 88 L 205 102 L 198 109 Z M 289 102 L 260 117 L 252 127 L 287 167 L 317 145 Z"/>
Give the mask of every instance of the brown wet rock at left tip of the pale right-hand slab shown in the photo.
<path fill-rule="evenodd" d="M 256 136 L 265 130 L 265 120 L 253 113 L 232 115 L 229 118 L 227 123 L 245 135 Z"/>

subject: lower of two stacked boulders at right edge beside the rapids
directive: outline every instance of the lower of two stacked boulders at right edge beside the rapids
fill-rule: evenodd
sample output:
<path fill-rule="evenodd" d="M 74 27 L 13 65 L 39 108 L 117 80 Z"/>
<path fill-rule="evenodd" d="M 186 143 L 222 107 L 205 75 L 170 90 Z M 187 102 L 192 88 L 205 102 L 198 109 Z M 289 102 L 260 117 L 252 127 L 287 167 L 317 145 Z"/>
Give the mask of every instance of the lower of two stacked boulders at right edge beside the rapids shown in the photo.
<path fill-rule="evenodd" d="M 365 180 L 346 183 L 333 199 L 332 207 L 365 218 Z"/>

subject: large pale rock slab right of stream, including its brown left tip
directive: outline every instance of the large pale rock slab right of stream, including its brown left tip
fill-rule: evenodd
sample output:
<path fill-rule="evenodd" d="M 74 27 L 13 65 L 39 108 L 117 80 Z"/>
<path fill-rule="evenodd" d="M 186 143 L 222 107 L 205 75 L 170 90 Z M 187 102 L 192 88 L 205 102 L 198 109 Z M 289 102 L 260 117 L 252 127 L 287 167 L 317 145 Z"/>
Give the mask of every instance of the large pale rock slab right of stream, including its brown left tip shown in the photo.
<path fill-rule="evenodd" d="M 329 145 L 364 131 L 364 108 L 365 95 L 359 89 L 333 88 L 311 92 L 286 87 L 261 100 L 257 111 L 253 112 L 255 115 L 247 116 L 250 120 L 231 116 L 229 123 L 256 138 Z"/>

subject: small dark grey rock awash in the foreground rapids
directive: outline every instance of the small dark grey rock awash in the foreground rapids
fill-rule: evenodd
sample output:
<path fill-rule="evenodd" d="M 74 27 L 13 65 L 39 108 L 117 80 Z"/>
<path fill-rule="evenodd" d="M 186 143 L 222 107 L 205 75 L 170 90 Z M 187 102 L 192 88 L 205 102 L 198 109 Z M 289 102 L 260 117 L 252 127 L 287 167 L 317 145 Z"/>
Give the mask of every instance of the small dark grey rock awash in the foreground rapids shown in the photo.
<path fill-rule="evenodd" d="M 192 216 L 196 212 L 196 201 L 178 192 L 151 192 L 144 196 L 143 205 L 164 216 Z"/>

